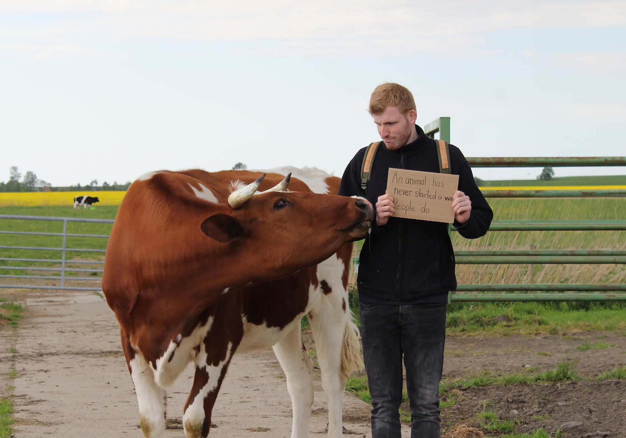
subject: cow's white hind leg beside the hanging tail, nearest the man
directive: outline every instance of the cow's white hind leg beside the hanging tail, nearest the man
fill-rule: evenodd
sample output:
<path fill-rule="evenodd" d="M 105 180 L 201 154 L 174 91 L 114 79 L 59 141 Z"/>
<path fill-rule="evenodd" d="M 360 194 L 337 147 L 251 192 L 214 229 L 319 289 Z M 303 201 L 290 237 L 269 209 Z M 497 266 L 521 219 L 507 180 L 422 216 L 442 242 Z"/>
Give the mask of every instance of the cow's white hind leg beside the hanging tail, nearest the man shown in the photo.
<path fill-rule="evenodd" d="M 322 388 L 328 404 L 328 436 L 332 438 L 342 436 L 341 405 L 347 380 L 341 367 L 347 323 L 346 307 L 342 307 L 341 295 L 342 290 L 333 290 L 322 296 L 319 305 L 309 313 L 317 347 L 317 362 L 322 371 Z"/>

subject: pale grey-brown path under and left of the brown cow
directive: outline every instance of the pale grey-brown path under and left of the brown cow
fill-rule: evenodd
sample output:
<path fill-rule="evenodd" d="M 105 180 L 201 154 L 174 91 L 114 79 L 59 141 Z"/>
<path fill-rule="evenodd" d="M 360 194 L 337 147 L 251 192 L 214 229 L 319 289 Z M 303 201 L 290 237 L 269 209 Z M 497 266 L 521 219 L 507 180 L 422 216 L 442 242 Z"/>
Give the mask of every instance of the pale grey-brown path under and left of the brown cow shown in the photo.
<path fill-rule="evenodd" d="M 18 332 L 4 331 L 6 342 L 0 337 L 3 351 L 18 339 L 18 353 L 3 354 L 5 360 L 0 362 L 10 368 L 14 360 L 18 371 L 15 379 L 5 382 L 15 387 L 16 437 L 143 436 L 118 323 L 106 302 L 87 293 L 29 293 L 21 298 L 26 317 Z M 180 422 L 192 379 L 190 365 L 168 391 L 168 418 Z M 314 387 L 311 436 L 326 436 L 319 372 Z M 344 425 L 351 432 L 347 436 L 371 436 L 369 409 L 346 394 Z M 272 350 L 235 355 L 213 410 L 213 423 L 217 427 L 211 434 L 217 436 L 290 436 L 291 402 Z M 405 435 L 409 435 L 406 426 Z M 184 435 L 182 429 L 168 429 L 166 436 Z"/>

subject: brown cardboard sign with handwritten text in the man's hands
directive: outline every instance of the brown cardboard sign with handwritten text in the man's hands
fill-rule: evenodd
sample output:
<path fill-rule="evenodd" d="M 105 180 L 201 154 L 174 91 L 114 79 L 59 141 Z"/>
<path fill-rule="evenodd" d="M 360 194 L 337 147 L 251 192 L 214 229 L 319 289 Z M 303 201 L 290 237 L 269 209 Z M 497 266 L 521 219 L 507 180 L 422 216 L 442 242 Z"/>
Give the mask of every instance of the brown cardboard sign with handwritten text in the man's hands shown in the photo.
<path fill-rule="evenodd" d="M 394 217 L 454 222 L 452 196 L 459 176 L 389 168 L 387 194 L 393 196 Z"/>

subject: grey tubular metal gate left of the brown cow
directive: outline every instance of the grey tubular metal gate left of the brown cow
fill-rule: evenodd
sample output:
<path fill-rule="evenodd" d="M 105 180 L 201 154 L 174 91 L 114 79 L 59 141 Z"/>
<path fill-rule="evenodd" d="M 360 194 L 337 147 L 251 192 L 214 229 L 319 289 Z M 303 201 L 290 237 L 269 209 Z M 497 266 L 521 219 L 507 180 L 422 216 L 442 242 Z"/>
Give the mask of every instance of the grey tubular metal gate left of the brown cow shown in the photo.
<path fill-rule="evenodd" d="M 0 288 L 23 288 L 23 289 L 48 289 L 48 290 L 94 290 L 101 291 L 100 287 L 68 287 L 65 285 L 66 280 L 80 280 L 80 281 L 101 281 L 101 278 L 88 278 L 88 277 L 69 277 L 65 275 L 66 272 L 103 272 L 101 269 L 80 269 L 80 268 L 68 268 L 66 263 L 81 263 L 81 264 L 95 264 L 103 265 L 105 262 L 95 260 L 67 260 L 66 253 L 68 252 L 86 252 L 86 253 L 106 253 L 106 250 L 91 249 L 91 248 L 68 248 L 66 246 L 67 237 L 90 237 L 90 238 L 108 238 L 108 235 L 102 234 L 76 234 L 68 233 L 68 222 L 82 222 L 82 223 L 113 223 L 111 219 L 83 219 L 83 218 L 60 218 L 60 217 L 48 217 L 48 216 L 19 216 L 19 215 L 0 215 L 1 219 L 13 219 L 13 220 L 38 220 L 38 221 L 52 221 L 63 222 L 63 233 L 38 233 L 38 232 L 14 232 L 14 231 L 0 231 L 0 234 L 16 234 L 16 235 L 39 235 L 39 236 L 57 236 L 63 238 L 63 243 L 60 248 L 57 247 L 13 247 L 2 245 L 1 249 L 13 249 L 13 250 L 39 250 L 39 251 L 58 251 L 61 252 L 60 259 L 48 259 L 48 258 L 7 258 L 2 257 L 0 260 L 4 262 L 43 262 L 43 263 L 61 263 L 60 268 L 42 268 L 42 267 L 29 267 L 29 266 L 0 266 L 0 270 L 24 270 L 24 271 L 56 271 L 61 272 L 60 277 L 45 276 L 45 275 L 0 275 L 0 278 L 29 278 L 34 280 L 61 280 L 60 286 L 46 286 L 46 285 L 0 285 Z"/>

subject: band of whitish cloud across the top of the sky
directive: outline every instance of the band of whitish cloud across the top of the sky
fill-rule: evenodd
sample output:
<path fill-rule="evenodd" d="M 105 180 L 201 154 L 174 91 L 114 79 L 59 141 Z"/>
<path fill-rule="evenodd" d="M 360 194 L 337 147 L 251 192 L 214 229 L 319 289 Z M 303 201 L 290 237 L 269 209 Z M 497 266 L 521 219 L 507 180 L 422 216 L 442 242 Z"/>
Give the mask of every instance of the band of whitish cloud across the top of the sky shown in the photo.
<path fill-rule="evenodd" d="M 279 55 L 454 51 L 475 46 L 488 31 L 626 24 L 626 2 L 607 0 L 0 0 L 0 11 L 52 13 L 55 20 L 27 28 L 9 21 L 4 35 L 105 31 L 135 38 L 260 39 L 268 41 L 259 51 L 240 50 Z M 89 21 L 82 13 L 90 14 Z M 301 46 L 290 52 L 284 43 Z"/>

